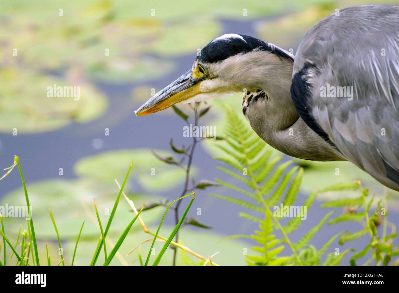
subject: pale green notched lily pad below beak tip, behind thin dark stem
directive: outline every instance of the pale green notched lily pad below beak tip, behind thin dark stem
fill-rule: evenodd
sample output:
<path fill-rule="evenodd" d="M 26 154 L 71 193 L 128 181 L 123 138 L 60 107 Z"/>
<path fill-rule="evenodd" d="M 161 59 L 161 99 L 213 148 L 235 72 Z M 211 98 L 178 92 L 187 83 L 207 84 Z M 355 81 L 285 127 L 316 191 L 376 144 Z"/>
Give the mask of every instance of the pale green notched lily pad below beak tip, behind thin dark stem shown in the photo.
<path fill-rule="evenodd" d="M 155 151 L 164 157 L 172 155 L 163 150 Z M 126 162 L 130 161 L 133 161 L 130 178 L 136 179 L 148 191 L 166 191 L 185 180 L 183 169 L 160 161 L 150 149 L 121 149 L 99 153 L 77 161 L 74 170 L 79 176 L 100 181 L 113 182 L 117 178 L 121 184 L 128 169 Z"/>

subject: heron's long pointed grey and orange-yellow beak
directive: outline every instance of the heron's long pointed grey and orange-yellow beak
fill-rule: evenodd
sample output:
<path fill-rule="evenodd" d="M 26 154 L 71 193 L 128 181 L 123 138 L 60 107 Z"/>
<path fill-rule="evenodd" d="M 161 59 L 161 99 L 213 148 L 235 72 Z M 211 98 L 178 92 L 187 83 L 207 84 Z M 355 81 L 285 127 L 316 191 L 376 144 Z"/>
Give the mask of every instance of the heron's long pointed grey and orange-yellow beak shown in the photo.
<path fill-rule="evenodd" d="M 137 116 L 152 114 L 201 93 L 199 82 L 202 79 L 192 77 L 192 73 L 192 70 L 184 73 L 176 81 L 142 104 L 134 113 Z"/>

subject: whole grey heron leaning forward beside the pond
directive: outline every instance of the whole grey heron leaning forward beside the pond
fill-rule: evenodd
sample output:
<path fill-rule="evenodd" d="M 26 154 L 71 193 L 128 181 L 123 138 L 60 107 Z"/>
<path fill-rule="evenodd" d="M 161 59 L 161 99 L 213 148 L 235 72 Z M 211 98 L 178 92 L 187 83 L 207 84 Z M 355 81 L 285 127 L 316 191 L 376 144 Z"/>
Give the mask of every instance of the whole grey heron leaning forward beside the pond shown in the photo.
<path fill-rule="evenodd" d="M 321 20 L 296 55 L 226 34 L 136 115 L 245 92 L 243 114 L 292 157 L 350 161 L 399 191 L 399 6 L 345 8 Z"/>

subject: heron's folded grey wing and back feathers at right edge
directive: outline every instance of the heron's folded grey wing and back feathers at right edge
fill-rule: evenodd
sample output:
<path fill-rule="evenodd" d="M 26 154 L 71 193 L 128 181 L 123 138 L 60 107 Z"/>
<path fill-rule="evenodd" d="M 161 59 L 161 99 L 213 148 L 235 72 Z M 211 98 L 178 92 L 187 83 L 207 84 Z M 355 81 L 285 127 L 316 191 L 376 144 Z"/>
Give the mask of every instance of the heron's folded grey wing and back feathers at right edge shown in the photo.
<path fill-rule="evenodd" d="M 399 7 L 328 16 L 298 48 L 293 74 L 304 67 L 313 119 L 348 161 L 399 190 Z"/>

